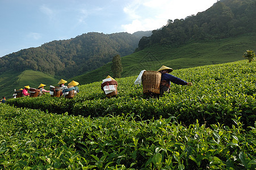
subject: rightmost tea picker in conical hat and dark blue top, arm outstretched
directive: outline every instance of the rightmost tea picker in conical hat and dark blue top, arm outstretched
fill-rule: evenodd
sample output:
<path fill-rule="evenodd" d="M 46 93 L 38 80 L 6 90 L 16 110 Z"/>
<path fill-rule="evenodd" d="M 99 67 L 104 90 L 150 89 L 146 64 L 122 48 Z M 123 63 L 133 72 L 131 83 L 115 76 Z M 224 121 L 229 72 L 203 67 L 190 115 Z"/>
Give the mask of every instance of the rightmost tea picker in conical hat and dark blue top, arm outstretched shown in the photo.
<path fill-rule="evenodd" d="M 161 75 L 161 82 L 160 82 L 160 95 L 162 96 L 165 92 L 170 91 L 170 82 L 174 84 L 181 84 L 181 85 L 187 85 L 192 86 L 191 82 L 186 82 L 185 80 L 182 80 L 174 75 L 171 75 L 171 69 L 170 67 L 162 66 L 160 69 L 157 70 L 160 72 Z"/>

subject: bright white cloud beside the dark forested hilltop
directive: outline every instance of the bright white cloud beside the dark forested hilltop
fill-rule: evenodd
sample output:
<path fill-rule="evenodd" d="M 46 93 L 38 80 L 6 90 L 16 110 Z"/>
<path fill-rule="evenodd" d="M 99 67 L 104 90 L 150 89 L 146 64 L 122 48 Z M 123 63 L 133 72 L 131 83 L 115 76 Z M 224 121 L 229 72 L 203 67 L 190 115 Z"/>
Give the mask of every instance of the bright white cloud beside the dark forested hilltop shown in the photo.
<path fill-rule="evenodd" d="M 135 0 L 125 6 L 123 11 L 130 23 L 123 24 L 124 31 L 149 31 L 161 28 L 168 19 L 184 19 L 192 14 L 207 10 L 217 0 Z"/>

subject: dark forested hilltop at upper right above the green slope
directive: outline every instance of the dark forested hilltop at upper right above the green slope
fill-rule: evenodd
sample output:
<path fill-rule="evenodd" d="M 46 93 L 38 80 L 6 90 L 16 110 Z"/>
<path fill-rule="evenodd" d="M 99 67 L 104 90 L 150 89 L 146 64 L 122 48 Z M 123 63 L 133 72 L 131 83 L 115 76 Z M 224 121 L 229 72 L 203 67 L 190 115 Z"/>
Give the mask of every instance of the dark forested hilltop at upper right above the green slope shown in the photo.
<path fill-rule="evenodd" d="M 150 45 L 184 45 L 190 41 L 216 40 L 256 31 L 256 0 L 221 0 L 211 8 L 167 25 L 142 37 L 139 48 Z"/>

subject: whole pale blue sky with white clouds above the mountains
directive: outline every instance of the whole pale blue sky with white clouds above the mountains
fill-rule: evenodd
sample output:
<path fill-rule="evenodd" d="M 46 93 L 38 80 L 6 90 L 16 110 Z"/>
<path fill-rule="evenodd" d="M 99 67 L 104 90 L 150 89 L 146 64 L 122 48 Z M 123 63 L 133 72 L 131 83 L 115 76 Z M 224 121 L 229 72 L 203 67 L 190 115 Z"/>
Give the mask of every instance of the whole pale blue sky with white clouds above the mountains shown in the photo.
<path fill-rule="evenodd" d="M 87 32 L 151 31 L 217 0 L 0 0 L 0 57 Z"/>

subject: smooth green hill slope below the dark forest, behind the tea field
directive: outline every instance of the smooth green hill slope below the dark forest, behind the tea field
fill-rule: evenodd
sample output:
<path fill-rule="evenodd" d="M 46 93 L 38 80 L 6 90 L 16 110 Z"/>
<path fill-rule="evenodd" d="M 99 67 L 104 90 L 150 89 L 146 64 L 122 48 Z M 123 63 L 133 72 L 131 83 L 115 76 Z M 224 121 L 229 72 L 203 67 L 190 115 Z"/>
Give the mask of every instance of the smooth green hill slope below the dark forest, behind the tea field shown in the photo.
<path fill-rule="evenodd" d="M 173 69 L 233 62 L 243 59 L 246 49 L 255 50 L 256 33 L 215 41 L 191 42 L 184 46 L 161 46 L 150 48 L 122 57 L 122 77 L 139 75 L 141 70 L 157 70 L 162 65 Z M 100 81 L 112 76 L 111 62 L 89 73 L 75 76 L 80 84 Z"/>

